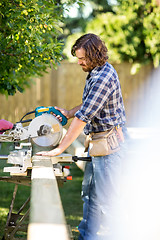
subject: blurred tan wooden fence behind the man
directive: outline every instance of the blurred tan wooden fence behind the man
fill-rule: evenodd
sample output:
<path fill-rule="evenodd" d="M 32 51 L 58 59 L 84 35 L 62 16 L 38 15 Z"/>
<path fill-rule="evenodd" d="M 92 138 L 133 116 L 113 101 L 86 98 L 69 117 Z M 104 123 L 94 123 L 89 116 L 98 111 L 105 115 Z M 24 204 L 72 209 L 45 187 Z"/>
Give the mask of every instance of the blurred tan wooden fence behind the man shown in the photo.
<path fill-rule="evenodd" d="M 150 88 L 151 81 L 149 75 L 152 66 L 143 66 L 139 73 L 131 75 L 131 64 L 114 64 L 118 72 L 121 88 L 126 108 L 127 125 L 134 126 L 140 120 L 142 108 L 145 107 L 147 99 L 147 89 Z M 85 85 L 86 73 L 82 71 L 77 63 L 63 62 L 57 70 L 49 69 L 42 78 L 34 79 L 30 89 L 24 93 L 16 93 L 8 99 L 0 95 L 0 118 L 4 118 L 13 123 L 28 111 L 34 110 L 38 106 L 54 106 L 71 109 L 80 104 L 83 88 Z"/>

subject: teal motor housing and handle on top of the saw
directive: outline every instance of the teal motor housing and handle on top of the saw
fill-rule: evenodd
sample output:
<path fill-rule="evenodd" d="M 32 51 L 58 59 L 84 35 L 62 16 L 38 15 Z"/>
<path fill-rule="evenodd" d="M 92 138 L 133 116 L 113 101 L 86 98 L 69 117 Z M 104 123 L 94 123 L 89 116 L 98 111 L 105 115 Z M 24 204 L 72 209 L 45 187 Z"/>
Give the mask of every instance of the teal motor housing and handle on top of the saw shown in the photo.
<path fill-rule="evenodd" d="M 50 114 L 55 114 L 56 116 L 57 115 L 59 115 L 59 116 L 61 116 L 61 118 L 62 118 L 62 121 L 61 121 L 61 124 L 62 124 L 62 126 L 64 126 L 64 125 L 66 125 L 67 124 L 67 118 L 66 118 L 66 116 L 64 116 L 59 110 L 57 110 L 57 109 L 55 109 L 54 107 L 43 107 L 43 106 L 41 106 L 41 107 L 37 107 L 36 109 L 35 109 L 35 116 L 37 117 L 37 116 L 40 116 L 40 115 L 42 115 L 43 113 L 50 113 Z"/>

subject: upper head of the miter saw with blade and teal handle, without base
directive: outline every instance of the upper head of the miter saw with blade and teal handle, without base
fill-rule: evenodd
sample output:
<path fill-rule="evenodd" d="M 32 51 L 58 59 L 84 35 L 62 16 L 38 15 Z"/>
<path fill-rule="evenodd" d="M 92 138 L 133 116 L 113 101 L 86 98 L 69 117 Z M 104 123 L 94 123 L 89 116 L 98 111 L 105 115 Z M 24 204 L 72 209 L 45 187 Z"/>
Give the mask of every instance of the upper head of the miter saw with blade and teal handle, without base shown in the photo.
<path fill-rule="evenodd" d="M 29 114 L 35 113 L 35 118 L 23 120 Z M 60 115 L 62 122 L 59 122 L 54 115 Z M 30 124 L 26 127 L 24 123 Z M 35 144 L 41 147 L 56 146 L 62 137 L 67 118 L 54 107 L 38 107 L 32 112 L 25 114 L 19 122 L 14 124 L 13 129 L 5 130 L 0 135 L 0 142 L 19 142 L 31 139 Z"/>

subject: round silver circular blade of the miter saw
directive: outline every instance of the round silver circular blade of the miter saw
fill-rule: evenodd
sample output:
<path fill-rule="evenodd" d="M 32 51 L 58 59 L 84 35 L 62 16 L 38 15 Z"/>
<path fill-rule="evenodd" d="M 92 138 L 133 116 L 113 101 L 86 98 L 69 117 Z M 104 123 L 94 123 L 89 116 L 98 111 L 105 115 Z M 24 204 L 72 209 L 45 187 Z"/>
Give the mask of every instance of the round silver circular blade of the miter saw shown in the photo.
<path fill-rule="evenodd" d="M 41 147 L 56 146 L 63 133 L 60 122 L 51 114 L 44 113 L 32 120 L 28 127 L 29 136 Z"/>

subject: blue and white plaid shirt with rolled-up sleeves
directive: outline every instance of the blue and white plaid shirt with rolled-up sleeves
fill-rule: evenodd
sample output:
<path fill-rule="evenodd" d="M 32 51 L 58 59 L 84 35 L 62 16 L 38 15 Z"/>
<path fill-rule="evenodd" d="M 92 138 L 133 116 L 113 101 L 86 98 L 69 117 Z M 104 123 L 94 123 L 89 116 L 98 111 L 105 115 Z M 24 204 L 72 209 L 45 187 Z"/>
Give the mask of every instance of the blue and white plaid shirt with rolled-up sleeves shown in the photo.
<path fill-rule="evenodd" d="M 108 62 L 88 74 L 82 101 L 75 116 L 87 123 L 85 134 L 103 132 L 126 121 L 118 75 Z"/>

